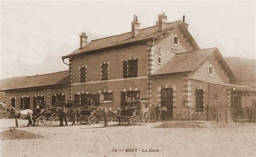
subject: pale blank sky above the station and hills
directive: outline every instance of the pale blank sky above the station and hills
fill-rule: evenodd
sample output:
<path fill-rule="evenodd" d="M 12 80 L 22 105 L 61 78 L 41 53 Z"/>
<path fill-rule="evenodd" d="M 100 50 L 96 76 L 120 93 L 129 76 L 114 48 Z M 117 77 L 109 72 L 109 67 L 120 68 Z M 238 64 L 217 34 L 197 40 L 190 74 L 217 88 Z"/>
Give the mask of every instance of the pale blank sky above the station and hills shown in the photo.
<path fill-rule="evenodd" d="M 218 47 L 224 57 L 256 59 L 255 2 L 18 2 L 1 1 L 0 79 L 68 70 L 62 56 L 89 40 L 167 22 L 189 24 L 201 49 Z M 68 60 L 66 60 L 68 63 Z"/>

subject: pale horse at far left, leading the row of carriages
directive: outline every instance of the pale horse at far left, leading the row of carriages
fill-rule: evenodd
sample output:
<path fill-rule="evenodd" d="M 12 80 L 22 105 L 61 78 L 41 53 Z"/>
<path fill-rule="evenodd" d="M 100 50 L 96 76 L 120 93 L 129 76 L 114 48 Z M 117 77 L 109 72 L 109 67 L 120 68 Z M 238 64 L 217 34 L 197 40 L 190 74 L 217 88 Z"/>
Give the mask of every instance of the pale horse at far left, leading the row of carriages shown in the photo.
<path fill-rule="evenodd" d="M 9 106 L 6 108 L 7 112 L 11 113 L 11 118 L 14 117 L 15 118 L 15 127 L 18 127 L 18 119 L 21 117 L 21 114 L 23 115 L 28 115 L 29 113 L 33 114 L 33 111 L 30 109 L 26 109 L 26 110 L 18 110 L 17 108 L 13 107 L 13 106 Z"/>

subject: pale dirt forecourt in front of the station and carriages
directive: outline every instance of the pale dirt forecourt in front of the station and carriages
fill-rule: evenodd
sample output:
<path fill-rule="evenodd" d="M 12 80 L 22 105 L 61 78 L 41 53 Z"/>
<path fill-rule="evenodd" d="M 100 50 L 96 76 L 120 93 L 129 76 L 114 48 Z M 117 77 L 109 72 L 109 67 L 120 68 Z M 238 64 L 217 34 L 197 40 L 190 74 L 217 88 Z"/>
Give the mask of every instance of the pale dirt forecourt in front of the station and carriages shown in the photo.
<path fill-rule="evenodd" d="M 17 129 L 43 138 L 0 140 L 1 156 L 256 155 L 254 123 L 171 121 L 119 127 L 117 122 L 111 122 L 110 127 L 104 128 L 103 123 L 25 127 L 27 122 L 19 120 Z M 14 119 L 0 120 L 1 133 L 13 126 Z"/>

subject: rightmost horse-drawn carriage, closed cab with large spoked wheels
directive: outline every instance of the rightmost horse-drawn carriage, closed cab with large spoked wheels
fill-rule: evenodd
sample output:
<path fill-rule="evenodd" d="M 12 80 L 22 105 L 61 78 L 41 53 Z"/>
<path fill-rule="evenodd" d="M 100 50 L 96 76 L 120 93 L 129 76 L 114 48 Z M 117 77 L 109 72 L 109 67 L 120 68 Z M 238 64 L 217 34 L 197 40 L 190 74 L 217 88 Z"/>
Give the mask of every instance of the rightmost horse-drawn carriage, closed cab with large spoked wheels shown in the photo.
<path fill-rule="evenodd" d="M 144 125 L 148 124 L 150 122 L 149 100 L 139 99 L 129 103 L 130 105 L 121 108 L 120 114 L 111 110 L 110 114 L 117 115 L 119 124 L 122 122 L 125 126 L 138 125 L 140 119 Z"/>

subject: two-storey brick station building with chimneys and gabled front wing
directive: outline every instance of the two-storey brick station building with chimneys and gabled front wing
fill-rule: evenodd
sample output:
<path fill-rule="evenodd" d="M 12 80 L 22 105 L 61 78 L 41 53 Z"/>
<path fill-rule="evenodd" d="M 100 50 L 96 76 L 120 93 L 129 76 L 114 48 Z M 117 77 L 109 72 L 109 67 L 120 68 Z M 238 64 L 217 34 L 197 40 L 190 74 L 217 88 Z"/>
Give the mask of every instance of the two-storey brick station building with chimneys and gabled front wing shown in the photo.
<path fill-rule="evenodd" d="M 191 108 L 233 107 L 232 93 L 255 89 L 233 85 L 236 78 L 217 47 L 200 49 L 183 21 L 158 22 L 140 28 L 138 17 L 131 32 L 87 42 L 63 56 L 69 65 L 70 100 L 82 103 L 88 94 L 104 94 L 112 107 L 123 107 L 136 97 L 167 107 L 169 119 L 189 119 Z"/>

